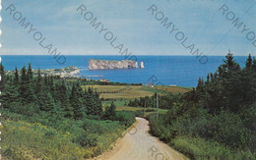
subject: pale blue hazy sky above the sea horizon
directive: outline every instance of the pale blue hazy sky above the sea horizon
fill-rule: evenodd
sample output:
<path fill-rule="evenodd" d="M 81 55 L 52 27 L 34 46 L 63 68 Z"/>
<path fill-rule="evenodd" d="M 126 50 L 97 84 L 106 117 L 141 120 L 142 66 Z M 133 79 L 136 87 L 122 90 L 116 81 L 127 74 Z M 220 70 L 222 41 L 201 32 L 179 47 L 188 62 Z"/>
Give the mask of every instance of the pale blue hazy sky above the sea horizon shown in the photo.
<path fill-rule="evenodd" d="M 82 4 L 91 14 L 87 18 L 106 30 L 99 32 L 101 26 L 81 16 Z M 19 16 L 36 29 L 21 27 Z M 194 44 L 193 51 L 207 56 L 223 56 L 228 49 L 235 56 L 256 56 L 255 0 L 3 0 L 1 17 L 1 55 L 49 55 L 49 44 L 62 55 L 121 55 L 125 48 L 133 55 L 192 55 L 188 46 Z M 161 17 L 172 25 L 163 27 Z M 239 28 L 232 24 L 236 18 L 243 23 Z M 178 30 L 170 33 L 172 27 Z M 42 38 L 34 40 L 40 34 L 41 45 Z M 106 40 L 111 34 L 112 45 L 113 38 Z M 183 35 L 182 45 L 177 39 Z"/>

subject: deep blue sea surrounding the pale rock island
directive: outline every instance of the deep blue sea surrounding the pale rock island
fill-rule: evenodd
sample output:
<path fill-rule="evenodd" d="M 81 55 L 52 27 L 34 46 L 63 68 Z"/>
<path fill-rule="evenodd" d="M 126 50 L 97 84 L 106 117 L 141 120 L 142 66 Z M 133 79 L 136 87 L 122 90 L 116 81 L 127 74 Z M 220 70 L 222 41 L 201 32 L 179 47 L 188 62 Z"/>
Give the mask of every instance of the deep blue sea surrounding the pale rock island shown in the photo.
<path fill-rule="evenodd" d="M 196 86 L 199 77 L 206 79 L 207 74 L 215 72 L 223 63 L 224 56 L 209 56 L 207 64 L 200 64 L 195 56 L 136 56 L 138 62 L 144 62 L 145 69 L 132 70 L 88 70 L 89 59 L 123 60 L 124 56 L 66 56 L 66 62 L 60 65 L 53 56 L 1 56 L 5 70 L 20 70 L 24 65 L 32 64 L 32 69 L 60 69 L 74 65 L 81 70 L 80 76 L 90 76 L 89 79 L 106 79 L 128 83 L 155 83 L 178 86 Z M 244 67 L 247 57 L 234 58 Z M 101 77 L 91 77 L 101 76 Z"/>

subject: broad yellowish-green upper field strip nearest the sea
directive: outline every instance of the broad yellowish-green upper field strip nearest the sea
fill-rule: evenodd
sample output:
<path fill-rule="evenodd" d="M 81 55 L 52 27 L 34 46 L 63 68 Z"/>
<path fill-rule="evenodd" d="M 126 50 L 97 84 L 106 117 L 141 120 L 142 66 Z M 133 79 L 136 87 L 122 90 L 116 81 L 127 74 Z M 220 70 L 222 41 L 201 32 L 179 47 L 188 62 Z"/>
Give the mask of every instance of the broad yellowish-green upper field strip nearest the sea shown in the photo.
<path fill-rule="evenodd" d="M 100 93 L 100 98 L 109 99 L 134 99 L 145 96 L 152 96 L 155 92 L 184 93 L 189 88 L 179 86 L 138 86 L 138 85 L 84 85 L 84 88 L 93 87 Z"/>

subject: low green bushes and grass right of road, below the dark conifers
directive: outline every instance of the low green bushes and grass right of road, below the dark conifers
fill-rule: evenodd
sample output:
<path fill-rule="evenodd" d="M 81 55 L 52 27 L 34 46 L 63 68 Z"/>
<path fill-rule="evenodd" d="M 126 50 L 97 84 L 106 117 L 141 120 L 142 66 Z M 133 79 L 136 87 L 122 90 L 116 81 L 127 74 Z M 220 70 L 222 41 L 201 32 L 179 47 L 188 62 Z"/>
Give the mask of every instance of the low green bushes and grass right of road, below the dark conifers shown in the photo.
<path fill-rule="evenodd" d="M 210 115 L 203 108 L 173 107 L 159 119 L 151 116 L 150 127 L 151 133 L 192 159 L 255 159 L 255 136 L 238 114 L 229 111 Z"/>

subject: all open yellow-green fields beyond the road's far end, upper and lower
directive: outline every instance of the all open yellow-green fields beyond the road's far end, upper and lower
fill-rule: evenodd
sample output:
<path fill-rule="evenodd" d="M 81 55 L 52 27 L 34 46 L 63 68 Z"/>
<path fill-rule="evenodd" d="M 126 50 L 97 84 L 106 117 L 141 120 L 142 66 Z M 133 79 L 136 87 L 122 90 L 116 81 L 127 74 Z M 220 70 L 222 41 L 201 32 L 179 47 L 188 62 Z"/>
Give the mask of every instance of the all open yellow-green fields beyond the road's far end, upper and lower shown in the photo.
<path fill-rule="evenodd" d="M 179 86 L 139 86 L 139 85 L 84 85 L 84 88 L 93 87 L 100 93 L 100 98 L 114 99 L 116 111 L 133 111 L 141 112 L 144 117 L 156 114 L 156 108 L 140 108 L 127 106 L 130 99 L 140 98 L 145 96 L 152 96 L 155 92 L 159 94 L 164 93 L 185 93 L 191 88 L 179 87 Z M 106 106 L 110 106 L 111 101 L 102 101 L 103 110 Z M 167 110 L 159 109 L 160 114 L 165 114 Z"/>

